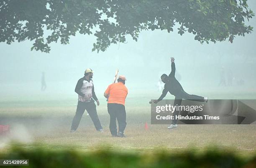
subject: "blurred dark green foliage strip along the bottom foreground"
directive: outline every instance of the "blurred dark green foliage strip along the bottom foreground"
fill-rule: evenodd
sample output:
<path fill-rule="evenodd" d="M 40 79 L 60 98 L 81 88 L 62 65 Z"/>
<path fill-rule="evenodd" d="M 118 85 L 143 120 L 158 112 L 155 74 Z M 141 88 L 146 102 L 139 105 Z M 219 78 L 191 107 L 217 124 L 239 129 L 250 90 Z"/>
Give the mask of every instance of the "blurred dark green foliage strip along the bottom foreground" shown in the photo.
<path fill-rule="evenodd" d="M 46 150 L 36 147 L 35 150 L 12 148 L 8 153 L 1 153 L 0 159 L 29 159 L 29 167 L 35 168 L 255 168 L 256 154 L 238 156 L 234 151 L 208 148 L 202 153 L 193 149 L 174 153 L 157 150 L 150 153 L 113 151 L 100 148 L 97 151 L 79 152 L 74 150 Z M 12 166 L 9 166 L 12 167 Z M 24 166 L 27 167 L 27 166 Z"/>

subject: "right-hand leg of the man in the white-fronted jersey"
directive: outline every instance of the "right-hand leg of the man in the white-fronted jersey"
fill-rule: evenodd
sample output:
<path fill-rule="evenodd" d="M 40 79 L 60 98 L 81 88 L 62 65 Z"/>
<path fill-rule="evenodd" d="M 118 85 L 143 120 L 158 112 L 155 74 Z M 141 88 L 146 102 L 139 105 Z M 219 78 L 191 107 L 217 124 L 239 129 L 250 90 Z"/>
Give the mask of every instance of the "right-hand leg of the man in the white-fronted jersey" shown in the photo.
<path fill-rule="evenodd" d="M 95 103 L 94 102 L 86 103 L 85 108 L 86 108 L 86 111 L 88 112 L 89 116 L 91 117 L 92 122 L 93 122 L 96 130 L 99 131 L 100 129 L 102 129 L 99 117 L 97 115 L 97 110 L 96 110 Z"/>

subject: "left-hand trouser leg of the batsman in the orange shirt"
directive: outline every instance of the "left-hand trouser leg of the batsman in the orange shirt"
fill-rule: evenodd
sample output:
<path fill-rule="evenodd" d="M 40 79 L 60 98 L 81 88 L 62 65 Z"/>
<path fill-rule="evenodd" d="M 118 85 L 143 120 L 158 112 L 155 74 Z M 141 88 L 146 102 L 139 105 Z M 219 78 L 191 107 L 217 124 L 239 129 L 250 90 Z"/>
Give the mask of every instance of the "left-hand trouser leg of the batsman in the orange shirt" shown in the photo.
<path fill-rule="evenodd" d="M 116 107 L 115 104 L 108 103 L 108 114 L 110 115 L 109 129 L 112 136 L 117 136 L 116 129 Z"/>

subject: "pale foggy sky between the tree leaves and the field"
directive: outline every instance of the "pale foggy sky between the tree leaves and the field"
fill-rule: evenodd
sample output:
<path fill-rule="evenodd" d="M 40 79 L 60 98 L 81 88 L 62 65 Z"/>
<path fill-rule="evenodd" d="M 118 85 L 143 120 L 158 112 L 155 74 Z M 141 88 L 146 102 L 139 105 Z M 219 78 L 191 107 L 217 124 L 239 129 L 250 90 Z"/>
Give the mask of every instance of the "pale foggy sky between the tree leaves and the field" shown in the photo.
<path fill-rule="evenodd" d="M 248 5 L 256 13 L 256 3 L 249 0 Z M 74 87 L 87 68 L 95 72 L 95 92 L 100 98 L 113 81 L 117 68 L 127 78 L 130 96 L 156 91 L 161 74 L 171 71 L 170 57 L 175 58 L 180 83 L 188 93 L 205 93 L 211 88 L 225 91 L 225 87 L 218 87 L 221 67 L 225 72 L 232 71 L 234 90 L 256 92 L 256 17 L 246 25 L 254 27 L 254 31 L 245 37 L 237 36 L 233 44 L 228 40 L 200 44 L 188 32 L 177 34 L 179 25 L 171 33 L 143 31 L 138 42 L 127 36 L 126 44 L 111 44 L 107 51 L 99 53 L 91 51 L 96 37 L 79 33 L 71 37 L 70 44 L 51 43 L 49 54 L 31 52 L 33 42 L 28 40 L 11 45 L 0 43 L 0 100 L 32 98 L 38 94 L 75 99 Z M 47 84 L 44 93 L 40 91 L 42 72 Z M 237 86 L 236 81 L 240 79 L 245 81 L 245 86 Z"/>

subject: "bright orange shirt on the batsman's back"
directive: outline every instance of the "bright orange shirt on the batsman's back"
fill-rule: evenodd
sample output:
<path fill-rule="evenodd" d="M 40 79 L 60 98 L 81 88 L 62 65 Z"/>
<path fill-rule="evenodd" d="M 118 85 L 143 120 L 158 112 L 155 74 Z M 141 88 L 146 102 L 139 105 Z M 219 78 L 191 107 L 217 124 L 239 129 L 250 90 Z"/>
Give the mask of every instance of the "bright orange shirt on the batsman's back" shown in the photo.
<path fill-rule="evenodd" d="M 128 94 L 128 89 L 122 82 L 118 82 L 110 84 L 105 93 L 109 94 L 108 103 L 125 105 L 125 98 Z"/>

